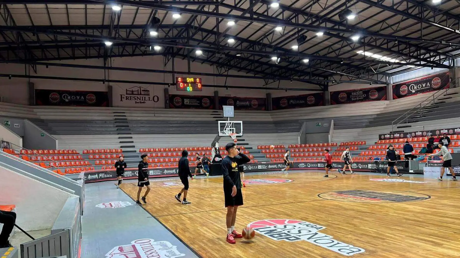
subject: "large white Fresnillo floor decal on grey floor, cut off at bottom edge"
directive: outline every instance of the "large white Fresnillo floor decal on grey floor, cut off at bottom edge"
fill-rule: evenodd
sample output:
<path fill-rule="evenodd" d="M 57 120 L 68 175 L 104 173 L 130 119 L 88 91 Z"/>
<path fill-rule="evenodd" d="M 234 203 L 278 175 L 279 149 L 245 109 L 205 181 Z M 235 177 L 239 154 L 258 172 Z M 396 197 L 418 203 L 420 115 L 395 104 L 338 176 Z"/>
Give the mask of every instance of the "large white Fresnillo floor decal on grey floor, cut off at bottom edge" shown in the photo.
<path fill-rule="evenodd" d="M 117 246 L 105 254 L 106 258 L 175 258 L 185 256 L 168 241 L 138 239 L 130 245 Z"/>

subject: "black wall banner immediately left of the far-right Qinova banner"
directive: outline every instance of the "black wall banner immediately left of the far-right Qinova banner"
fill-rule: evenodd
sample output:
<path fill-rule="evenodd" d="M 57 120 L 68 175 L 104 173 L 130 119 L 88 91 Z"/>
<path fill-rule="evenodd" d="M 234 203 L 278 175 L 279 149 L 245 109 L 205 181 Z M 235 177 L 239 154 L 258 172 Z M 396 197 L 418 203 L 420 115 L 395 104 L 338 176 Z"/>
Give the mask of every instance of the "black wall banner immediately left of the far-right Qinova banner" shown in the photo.
<path fill-rule="evenodd" d="M 385 101 L 386 86 L 359 90 L 331 91 L 330 96 L 331 105 L 363 101 Z"/>

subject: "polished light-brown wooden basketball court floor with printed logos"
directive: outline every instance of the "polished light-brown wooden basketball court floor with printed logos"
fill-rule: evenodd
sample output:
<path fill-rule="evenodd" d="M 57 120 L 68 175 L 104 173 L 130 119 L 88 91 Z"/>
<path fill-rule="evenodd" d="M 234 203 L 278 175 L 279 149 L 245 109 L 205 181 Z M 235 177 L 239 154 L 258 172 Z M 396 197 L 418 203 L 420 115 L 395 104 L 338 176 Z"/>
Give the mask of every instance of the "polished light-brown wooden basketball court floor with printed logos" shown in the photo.
<path fill-rule="evenodd" d="M 460 257 L 460 182 L 322 175 L 247 173 L 236 229 L 251 224 L 256 236 L 235 245 L 225 241 L 221 177 L 190 180 L 191 205 L 175 200 L 178 180 L 152 182 L 144 208 L 205 258 Z M 135 182 L 121 188 L 135 198 Z"/>

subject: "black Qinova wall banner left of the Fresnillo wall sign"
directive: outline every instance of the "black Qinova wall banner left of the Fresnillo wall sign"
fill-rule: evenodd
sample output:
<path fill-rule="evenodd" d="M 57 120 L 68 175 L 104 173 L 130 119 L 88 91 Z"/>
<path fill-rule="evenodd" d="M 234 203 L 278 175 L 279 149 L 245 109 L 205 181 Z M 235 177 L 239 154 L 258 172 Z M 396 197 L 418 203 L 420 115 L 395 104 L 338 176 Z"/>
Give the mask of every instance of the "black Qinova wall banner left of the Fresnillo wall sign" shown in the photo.
<path fill-rule="evenodd" d="M 109 107 L 109 94 L 107 91 L 35 89 L 35 105 Z"/>

